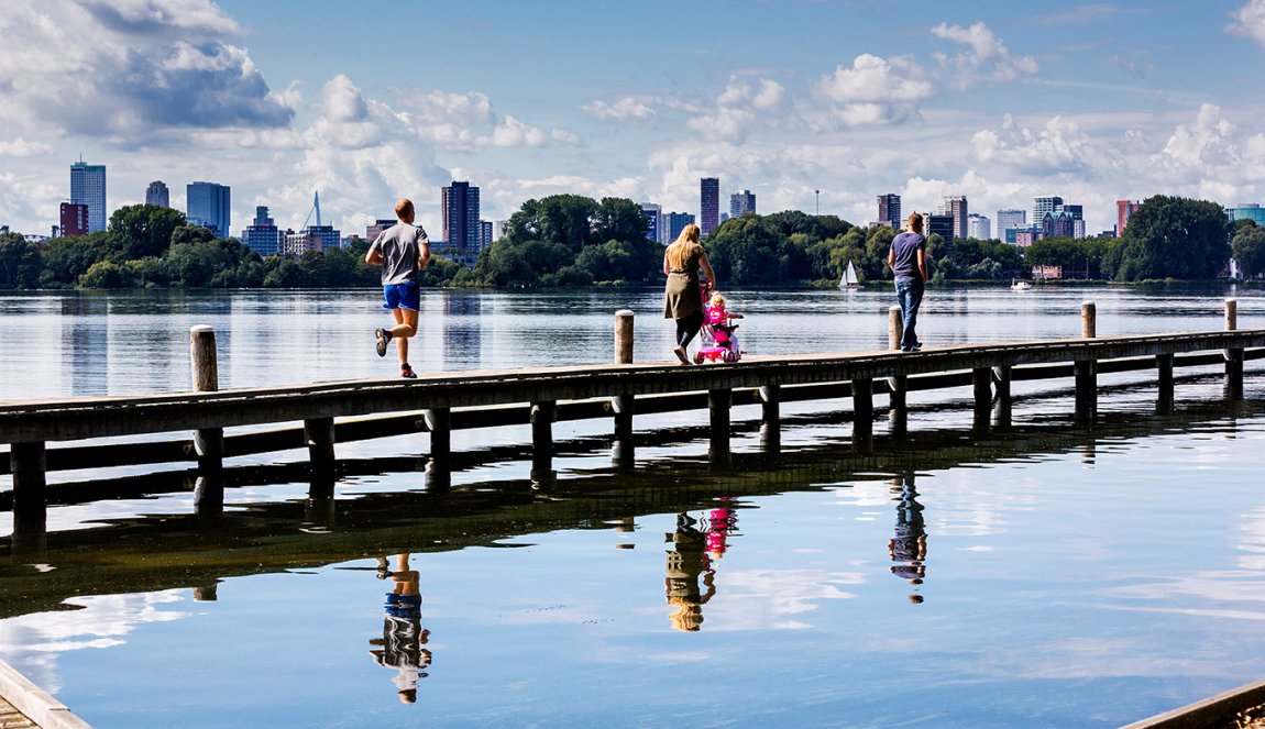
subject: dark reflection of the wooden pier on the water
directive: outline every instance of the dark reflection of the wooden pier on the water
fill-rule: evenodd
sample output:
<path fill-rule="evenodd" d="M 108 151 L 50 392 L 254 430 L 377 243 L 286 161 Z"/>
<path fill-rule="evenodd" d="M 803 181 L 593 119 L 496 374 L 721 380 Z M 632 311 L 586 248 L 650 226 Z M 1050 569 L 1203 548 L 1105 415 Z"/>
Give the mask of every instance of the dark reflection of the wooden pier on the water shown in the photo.
<path fill-rule="evenodd" d="M 959 430 L 920 431 L 917 452 L 899 437 L 879 437 L 872 449 L 825 445 L 794 452 L 735 454 L 722 480 L 706 459 L 650 462 L 635 474 L 608 469 L 558 479 L 540 489 L 529 479 L 496 480 L 425 489 L 425 457 L 349 460 L 347 475 L 415 474 L 417 490 L 363 494 L 355 499 L 239 505 L 214 517 L 195 514 L 115 519 L 104 527 L 59 531 L 47 536 L 38 561 L 54 567 L 37 572 L 15 548 L 0 550 L 0 585 L 23 599 L 0 603 L 0 618 L 54 610 L 82 594 L 144 593 L 175 587 L 211 587 L 219 580 L 278 570 L 319 567 L 383 553 L 495 546 L 524 534 L 558 529 L 627 528 L 635 517 L 715 509 L 735 498 L 837 488 L 845 481 L 889 481 L 898 474 L 950 470 L 963 464 L 1006 462 L 1049 454 L 1093 449 L 1099 441 L 1197 431 L 1230 417 L 1259 417 L 1259 403 L 1192 403 L 1174 414 L 1103 413 L 1092 428 L 1070 417 L 1044 418 L 1015 427 L 1006 437 L 972 442 Z M 788 418 L 791 425 L 830 416 Z M 758 422 L 740 423 L 754 430 Z M 706 437 L 706 428 L 665 430 L 649 436 L 657 443 Z M 600 438 L 565 443 L 568 452 L 600 452 Z M 482 461 L 530 455 L 507 446 L 481 455 Z M 463 454 L 457 466 L 473 465 L 479 454 Z M 464 461 L 464 462 L 463 462 Z M 67 495 L 85 500 L 101 494 L 128 495 L 186 490 L 190 473 L 166 473 L 73 486 Z M 302 481 L 304 464 L 229 469 L 231 486 Z M 830 484 L 827 486 L 826 484 Z M 15 546 L 16 547 L 16 546 Z M 884 572 L 887 569 L 884 567 Z M 204 590 L 206 591 L 206 590 Z"/>

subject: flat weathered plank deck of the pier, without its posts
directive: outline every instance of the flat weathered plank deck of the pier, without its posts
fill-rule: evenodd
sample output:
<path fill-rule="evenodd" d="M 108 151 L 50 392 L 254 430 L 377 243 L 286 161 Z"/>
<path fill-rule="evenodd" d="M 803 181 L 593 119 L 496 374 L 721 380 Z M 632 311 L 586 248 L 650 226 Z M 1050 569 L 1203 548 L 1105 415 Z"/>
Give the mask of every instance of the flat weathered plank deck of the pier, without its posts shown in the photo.
<path fill-rule="evenodd" d="M 724 366 L 591 364 L 424 374 L 276 388 L 0 403 L 0 443 L 220 428 L 435 408 L 846 383 L 975 368 L 1093 361 L 1265 346 L 1265 330 L 1044 340 L 921 352 L 753 356 Z M 968 380 L 969 382 L 969 380 Z"/>

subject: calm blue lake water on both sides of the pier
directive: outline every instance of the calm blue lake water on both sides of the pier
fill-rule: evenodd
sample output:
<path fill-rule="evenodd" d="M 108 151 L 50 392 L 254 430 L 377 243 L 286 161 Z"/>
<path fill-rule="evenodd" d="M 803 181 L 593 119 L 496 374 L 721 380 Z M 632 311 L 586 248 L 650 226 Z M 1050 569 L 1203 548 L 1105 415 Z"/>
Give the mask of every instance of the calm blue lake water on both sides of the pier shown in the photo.
<path fill-rule="evenodd" d="M 1085 299 L 1099 336 L 1217 330 L 1227 296 L 1265 326 L 1254 291 L 953 289 L 920 334 L 1078 336 Z M 426 292 L 412 364 L 610 361 L 620 308 L 635 359 L 665 360 L 660 301 Z M 753 354 L 882 349 L 891 303 L 730 292 Z M 202 323 L 224 388 L 395 377 L 373 354 L 386 318 L 373 292 L 0 294 L 0 399 L 187 389 Z M 1070 382 L 1017 384 L 1013 430 L 989 437 L 969 389 L 916 393 L 910 437 L 879 423 L 865 451 L 837 403 L 787 406 L 775 457 L 736 408 L 726 469 L 705 413 L 638 418 L 632 471 L 608 423 L 559 423 L 553 484 L 529 478 L 525 428 L 454 433 L 450 493 L 428 488 L 425 436 L 339 446 L 333 503 L 283 465 L 300 452 L 242 459 L 215 522 L 175 470 L 51 508 L 39 562 L 4 553 L 0 658 L 94 726 L 1114 726 L 1265 677 L 1265 368 L 1247 370 L 1233 404 L 1216 368 L 1182 370 L 1199 377 L 1168 416 L 1146 375 L 1104 375 L 1092 427 Z M 139 475 L 51 481 L 119 473 Z M 379 557 L 417 572 L 420 609 L 387 598 L 412 582 L 378 579 Z"/>

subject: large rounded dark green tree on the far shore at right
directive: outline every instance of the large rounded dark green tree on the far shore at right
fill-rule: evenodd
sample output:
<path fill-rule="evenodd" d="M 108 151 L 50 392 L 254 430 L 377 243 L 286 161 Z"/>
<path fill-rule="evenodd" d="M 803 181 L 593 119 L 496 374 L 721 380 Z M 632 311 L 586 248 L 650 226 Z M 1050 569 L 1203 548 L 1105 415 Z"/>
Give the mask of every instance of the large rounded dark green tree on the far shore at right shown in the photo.
<path fill-rule="evenodd" d="M 1209 279 L 1221 274 L 1230 253 L 1225 208 L 1156 195 L 1130 216 L 1111 263 L 1117 280 Z"/>

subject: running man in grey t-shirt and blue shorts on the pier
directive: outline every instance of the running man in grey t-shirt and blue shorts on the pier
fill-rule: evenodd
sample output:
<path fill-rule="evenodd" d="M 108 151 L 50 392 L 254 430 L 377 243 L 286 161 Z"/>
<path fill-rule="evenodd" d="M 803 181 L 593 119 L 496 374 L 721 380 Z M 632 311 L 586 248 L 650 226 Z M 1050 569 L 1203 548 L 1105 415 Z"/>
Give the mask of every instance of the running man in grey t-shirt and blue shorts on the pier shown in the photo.
<path fill-rule="evenodd" d="M 369 245 L 364 263 L 382 265 L 382 308 L 391 310 L 396 323 L 373 332 L 378 356 L 386 356 L 387 344 L 396 340 L 400 350 L 400 377 L 416 378 L 409 365 L 409 337 L 417 334 L 417 310 L 421 308 L 421 269 L 430 263 L 430 239 L 420 225 L 414 225 L 412 201 L 396 203 L 400 222 L 383 230 Z"/>

